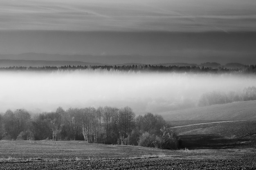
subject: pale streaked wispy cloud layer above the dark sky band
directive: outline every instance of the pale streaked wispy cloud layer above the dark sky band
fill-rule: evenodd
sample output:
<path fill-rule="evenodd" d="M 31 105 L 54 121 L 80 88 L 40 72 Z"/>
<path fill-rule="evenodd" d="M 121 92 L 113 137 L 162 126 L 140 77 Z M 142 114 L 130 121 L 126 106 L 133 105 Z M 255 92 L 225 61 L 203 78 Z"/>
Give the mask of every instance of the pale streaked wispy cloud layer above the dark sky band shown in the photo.
<path fill-rule="evenodd" d="M 254 31 L 252 0 L 1 0 L 1 29 Z M 198 4 L 198 5 L 195 5 Z"/>

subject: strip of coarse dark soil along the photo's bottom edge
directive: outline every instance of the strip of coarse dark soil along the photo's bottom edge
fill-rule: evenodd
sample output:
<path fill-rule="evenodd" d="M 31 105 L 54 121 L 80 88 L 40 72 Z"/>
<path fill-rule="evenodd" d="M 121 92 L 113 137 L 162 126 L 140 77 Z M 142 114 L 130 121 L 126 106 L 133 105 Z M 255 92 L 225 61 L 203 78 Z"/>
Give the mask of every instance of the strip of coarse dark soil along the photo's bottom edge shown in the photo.
<path fill-rule="evenodd" d="M 136 170 L 253 170 L 255 158 L 245 159 L 126 159 L 103 161 L 46 161 L 0 164 L 1 170 L 82 170 L 82 169 L 136 169 Z"/>

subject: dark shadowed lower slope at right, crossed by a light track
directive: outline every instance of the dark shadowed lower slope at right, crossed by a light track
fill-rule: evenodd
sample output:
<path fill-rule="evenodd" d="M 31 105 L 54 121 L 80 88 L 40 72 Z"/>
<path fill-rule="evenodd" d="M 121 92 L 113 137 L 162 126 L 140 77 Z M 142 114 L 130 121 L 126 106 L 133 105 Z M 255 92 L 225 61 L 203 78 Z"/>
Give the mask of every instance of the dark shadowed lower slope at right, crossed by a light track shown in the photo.
<path fill-rule="evenodd" d="M 176 126 L 181 148 L 238 148 L 256 146 L 256 121 L 222 121 Z"/>

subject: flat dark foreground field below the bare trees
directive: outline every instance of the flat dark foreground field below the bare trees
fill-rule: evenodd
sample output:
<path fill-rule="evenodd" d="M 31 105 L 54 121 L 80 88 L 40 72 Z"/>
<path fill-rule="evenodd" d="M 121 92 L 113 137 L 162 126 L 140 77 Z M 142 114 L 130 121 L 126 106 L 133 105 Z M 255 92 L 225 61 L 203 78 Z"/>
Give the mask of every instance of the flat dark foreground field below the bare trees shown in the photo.
<path fill-rule="evenodd" d="M 161 150 L 83 141 L 0 141 L 0 169 L 255 169 L 256 149 Z"/>

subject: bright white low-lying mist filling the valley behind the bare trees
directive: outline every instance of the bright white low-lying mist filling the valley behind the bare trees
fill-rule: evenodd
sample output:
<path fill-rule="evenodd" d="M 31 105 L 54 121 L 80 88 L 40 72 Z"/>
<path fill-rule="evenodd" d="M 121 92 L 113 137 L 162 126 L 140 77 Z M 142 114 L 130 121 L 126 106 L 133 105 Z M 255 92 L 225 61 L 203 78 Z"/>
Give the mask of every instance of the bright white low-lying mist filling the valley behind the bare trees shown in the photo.
<path fill-rule="evenodd" d="M 121 71 L 0 72 L 0 112 L 130 106 L 136 114 L 196 107 L 203 93 L 242 91 L 255 75 Z"/>

